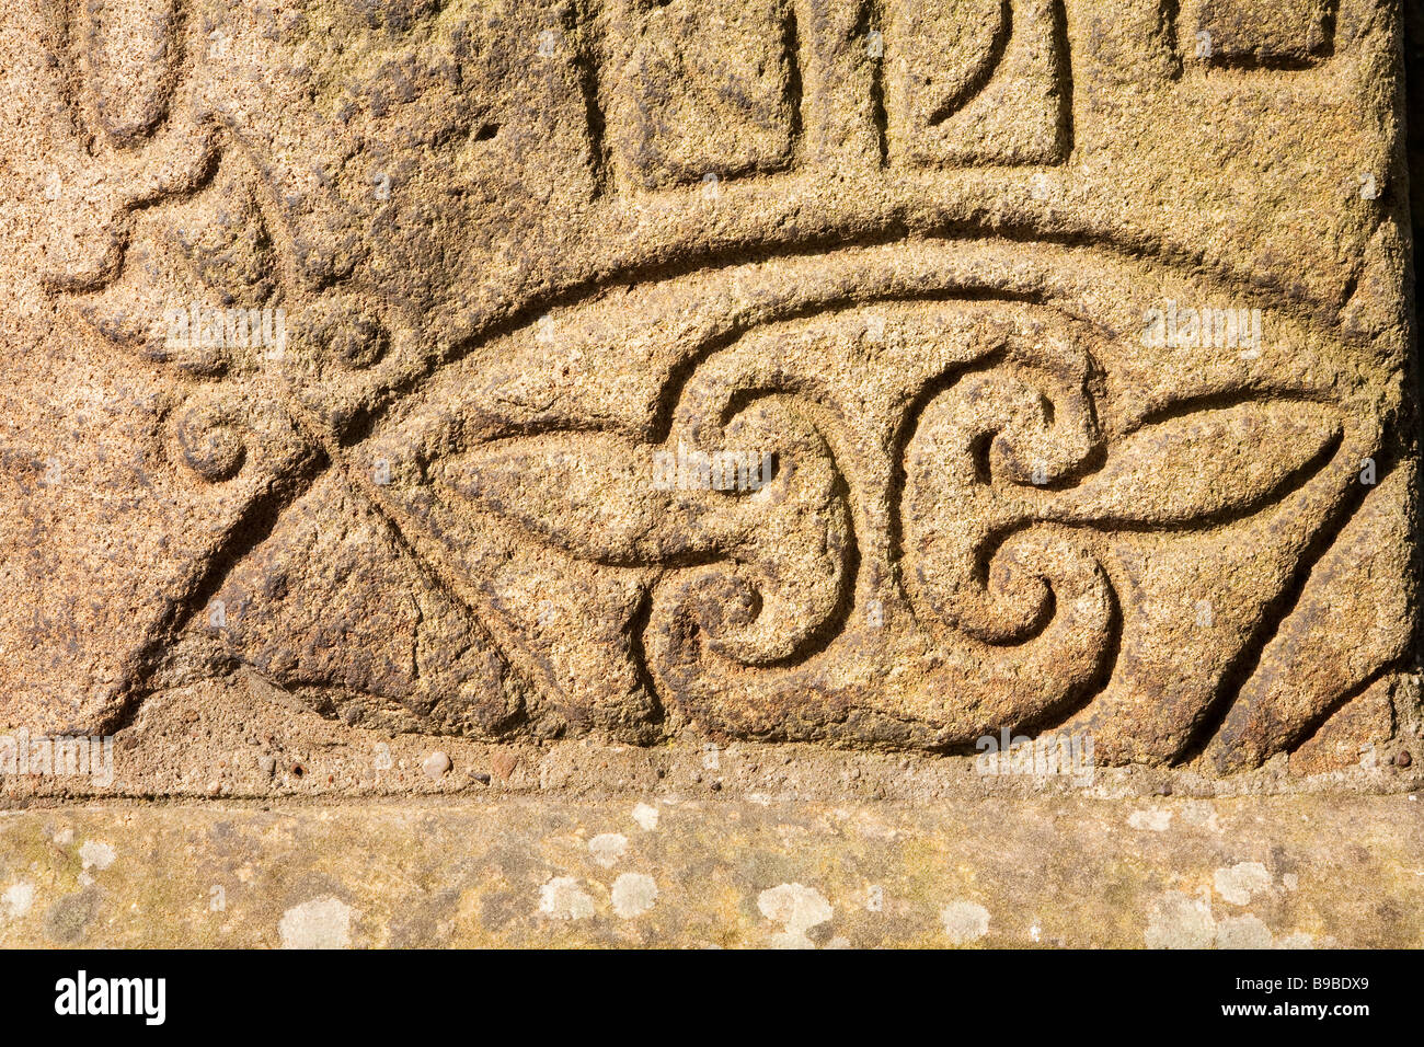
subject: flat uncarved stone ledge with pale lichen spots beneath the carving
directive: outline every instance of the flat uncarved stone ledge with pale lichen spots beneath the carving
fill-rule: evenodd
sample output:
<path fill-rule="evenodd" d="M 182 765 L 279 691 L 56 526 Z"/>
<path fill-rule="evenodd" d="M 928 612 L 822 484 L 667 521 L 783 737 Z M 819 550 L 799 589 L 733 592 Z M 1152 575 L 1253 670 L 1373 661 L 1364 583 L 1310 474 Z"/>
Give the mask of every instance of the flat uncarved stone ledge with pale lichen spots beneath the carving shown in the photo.
<path fill-rule="evenodd" d="M 1418 795 L 33 806 L 6 946 L 1424 946 Z"/>

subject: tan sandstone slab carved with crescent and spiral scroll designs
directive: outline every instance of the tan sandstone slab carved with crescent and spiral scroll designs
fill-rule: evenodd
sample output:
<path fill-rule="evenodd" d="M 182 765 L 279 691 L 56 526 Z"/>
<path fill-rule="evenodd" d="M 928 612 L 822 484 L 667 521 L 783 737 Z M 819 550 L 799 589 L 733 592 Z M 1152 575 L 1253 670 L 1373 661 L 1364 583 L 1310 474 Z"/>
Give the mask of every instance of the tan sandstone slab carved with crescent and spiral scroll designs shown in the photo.
<path fill-rule="evenodd" d="M 1418 751 L 1396 4 L 3 19 L 0 728 Z"/>

